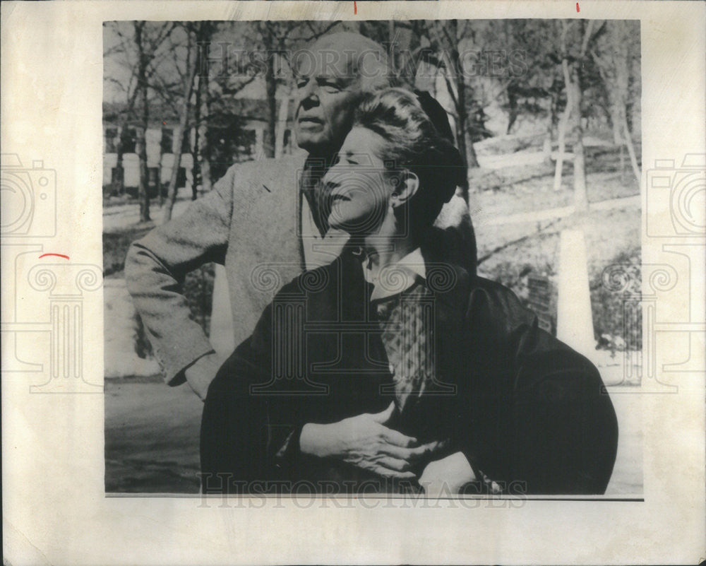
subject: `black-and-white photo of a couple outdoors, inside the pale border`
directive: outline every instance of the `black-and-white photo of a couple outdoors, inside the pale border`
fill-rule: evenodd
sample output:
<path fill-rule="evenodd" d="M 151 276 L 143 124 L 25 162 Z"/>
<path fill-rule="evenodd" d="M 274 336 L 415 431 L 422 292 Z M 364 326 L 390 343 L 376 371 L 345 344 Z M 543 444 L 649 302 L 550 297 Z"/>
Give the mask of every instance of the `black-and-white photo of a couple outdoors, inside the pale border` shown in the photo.
<path fill-rule="evenodd" d="M 643 495 L 640 22 L 106 21 L 107 495 Z"/>

